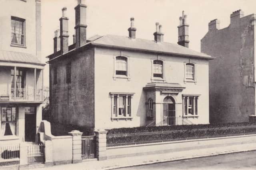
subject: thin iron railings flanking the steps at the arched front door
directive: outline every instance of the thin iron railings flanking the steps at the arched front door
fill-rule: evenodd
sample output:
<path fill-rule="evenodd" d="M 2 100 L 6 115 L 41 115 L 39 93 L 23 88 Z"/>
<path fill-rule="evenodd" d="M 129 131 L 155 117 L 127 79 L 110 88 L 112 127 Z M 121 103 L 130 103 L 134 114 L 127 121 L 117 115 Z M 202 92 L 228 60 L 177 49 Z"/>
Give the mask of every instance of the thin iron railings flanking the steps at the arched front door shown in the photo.
<path fill-rule="evenodd" d="M 193 125 L 187 117 L 170 117 L 164 116 L 163 120 L 156 123 L 156 126 L 172 126 L 172 125 Z"/>

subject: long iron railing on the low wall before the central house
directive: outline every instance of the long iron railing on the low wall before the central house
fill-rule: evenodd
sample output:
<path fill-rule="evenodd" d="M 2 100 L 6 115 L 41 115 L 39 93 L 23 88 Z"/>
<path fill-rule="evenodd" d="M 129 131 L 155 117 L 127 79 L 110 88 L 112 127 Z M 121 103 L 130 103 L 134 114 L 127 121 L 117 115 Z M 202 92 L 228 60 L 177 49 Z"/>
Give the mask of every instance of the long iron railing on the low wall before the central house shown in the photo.
<path fill-rule="evenodd" d="M 107 135 L 107 147 L 256 134 L 256 126 Z"/>

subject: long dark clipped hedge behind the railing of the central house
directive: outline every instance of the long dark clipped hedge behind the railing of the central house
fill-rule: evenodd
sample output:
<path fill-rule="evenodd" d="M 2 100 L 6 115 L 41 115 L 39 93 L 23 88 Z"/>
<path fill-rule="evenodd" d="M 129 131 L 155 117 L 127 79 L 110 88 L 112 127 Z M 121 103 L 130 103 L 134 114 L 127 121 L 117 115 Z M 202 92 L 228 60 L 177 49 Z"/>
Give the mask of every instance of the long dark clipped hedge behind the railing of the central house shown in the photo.
<path fill-rule="evenodd" d="M 132 127 L 132 128 L 115 128 L 108 129 L 107 135 L 113 134 L 130 134 L 130 133 L 145 133 L 145 132 L 161 132 L 161 131 L 180 131 L 192 129 L 212 129 L 212 128 L 229 128 L 229 127 L 244 127 L 253 126 L 256 123 L 241 122 L 241 123 L 219 123 L 219 124 L 200 124 L 200 125 L 173 125 L 173 126 L 150 126 L 150 127 Z"/>

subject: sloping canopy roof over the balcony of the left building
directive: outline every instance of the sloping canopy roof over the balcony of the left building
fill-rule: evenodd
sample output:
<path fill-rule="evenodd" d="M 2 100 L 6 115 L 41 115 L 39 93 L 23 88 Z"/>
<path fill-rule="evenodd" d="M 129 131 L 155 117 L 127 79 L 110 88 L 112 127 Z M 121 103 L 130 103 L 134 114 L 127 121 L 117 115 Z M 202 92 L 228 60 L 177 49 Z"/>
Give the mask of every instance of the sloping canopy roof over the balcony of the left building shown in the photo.
<path fill-rule="evenodd" d="M 16 51 L 0 51 L 0 61 L 45 65 L 34 55 Z"/>

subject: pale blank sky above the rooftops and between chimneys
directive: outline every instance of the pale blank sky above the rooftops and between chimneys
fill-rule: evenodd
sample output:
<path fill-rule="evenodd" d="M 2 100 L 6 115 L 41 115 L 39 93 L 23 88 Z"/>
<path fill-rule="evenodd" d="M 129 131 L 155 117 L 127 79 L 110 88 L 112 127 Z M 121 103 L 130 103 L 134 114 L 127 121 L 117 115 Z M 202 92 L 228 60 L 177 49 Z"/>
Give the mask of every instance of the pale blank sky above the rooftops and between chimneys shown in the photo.
<path fill-rule="evenodd" d="M 77 0 L 42 0 L 42 57 L 53 53 L 54 31 L 60 29 L 62 8 L 69 18 L 69 45 L 73 43 Z M 159 22 L 164 41 L 177 43 L 179 17 L 188 15 L 189 48 L 200 52 L 200 40 L 208 31 L 210 20 L 220 20 L 220 29 L 230 24 L 230 14 L 241 9 L 244 16 L 256 14 L 256 0 L 86 0 L 87 37 L 93 35 L 128 36 L 130 18 L 134 17 L 136 38 L 153 40 Z M 49 65 L 44 72 L 44 85 L 49 86 Z"/>

